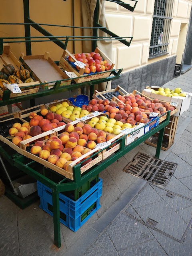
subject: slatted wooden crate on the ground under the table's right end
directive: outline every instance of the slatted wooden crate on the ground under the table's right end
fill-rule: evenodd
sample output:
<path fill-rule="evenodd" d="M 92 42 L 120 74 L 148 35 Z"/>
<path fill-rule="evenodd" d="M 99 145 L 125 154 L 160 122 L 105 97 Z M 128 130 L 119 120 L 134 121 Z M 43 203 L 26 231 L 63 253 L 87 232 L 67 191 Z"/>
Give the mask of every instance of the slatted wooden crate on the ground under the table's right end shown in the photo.
<path fill-rule="evenodd" d="M 163 143 L 162 143 L 162 150 L 168 150 L 172 144 L 174 143 L 174 138 L 175 138 L 175 134 L 176 134 L 176 129 L 177 129 L 177 124 L 178 124 L 178 116 L 171 116 L 170 117 L 170 121 L 169 124 L 165 127 L 165 132 L 164 132 L 164 136 L 163 136 Z M 156 139 L 147 139 L 145 141 L 146 144 L 153 146 L 153 147 L 157 147 L 157 139 L 159 136 L 159 132 L 157 132 L 156 134 L 154 134 L 154 136 L 156 136 Z"/>

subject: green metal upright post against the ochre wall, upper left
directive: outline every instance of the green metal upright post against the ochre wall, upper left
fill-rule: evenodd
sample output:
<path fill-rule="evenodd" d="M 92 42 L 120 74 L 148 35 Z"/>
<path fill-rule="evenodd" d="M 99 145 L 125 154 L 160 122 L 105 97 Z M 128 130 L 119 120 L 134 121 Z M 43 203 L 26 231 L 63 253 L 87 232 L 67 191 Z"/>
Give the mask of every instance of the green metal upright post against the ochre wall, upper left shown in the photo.
<path fill-rule="evenodd" d="M 24 23 L 30 23 L 29 18 L 29 0 L 23 0 L 23 9 L 24 9 Z M 25 36 L 31 36 L 30 33 L 30 25 L 24 25 L 25 26 Z M 28 38 L 25 39 L 26 41 Z M 26 47 L 26 54 L 31 55 L 31 42 L 25 43 Z"/>

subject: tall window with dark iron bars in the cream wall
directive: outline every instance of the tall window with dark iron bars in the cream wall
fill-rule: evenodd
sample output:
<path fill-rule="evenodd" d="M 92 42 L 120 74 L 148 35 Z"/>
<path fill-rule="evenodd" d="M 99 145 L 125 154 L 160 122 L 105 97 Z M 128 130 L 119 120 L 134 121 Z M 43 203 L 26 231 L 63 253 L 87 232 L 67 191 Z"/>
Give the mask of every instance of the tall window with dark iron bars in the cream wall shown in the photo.
<path fill-rule="evenodd" d="M 174 0 L 155 0 L 149 58 L 168 54 Z"/>

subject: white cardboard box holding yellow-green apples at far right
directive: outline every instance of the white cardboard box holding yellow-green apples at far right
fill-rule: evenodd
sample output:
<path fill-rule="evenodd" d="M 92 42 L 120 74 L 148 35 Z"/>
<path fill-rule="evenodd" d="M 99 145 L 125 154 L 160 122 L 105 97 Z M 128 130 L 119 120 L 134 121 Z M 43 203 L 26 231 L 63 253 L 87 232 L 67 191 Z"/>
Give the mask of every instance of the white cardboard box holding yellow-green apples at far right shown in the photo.
<path fill-rule="evenodd" d="M 154 90 L 158 90 L 158 86 L 152 86 L 150 87 Z M 167 101 L 167 102 L 176 102 L 178 103 L 178 112 L 176 112 L 174 114 L 174 116 L 181 116 L 183 114 L 183 112 L 185 112 L 186 110 L 189 109 L 190 106 L 190 100 L 191 100 L 191 96 L 190 95 L 186 95 L 186 97 L 181 97 L 181 96 L 173 96 L 173 97 L 167 97 L 167 96 L 162 96 L 159 94 L 155 94 L 152 93 L 149 89 L 144 89 L 142 90 L 142 94 L 150 97 L 150 98 L 155 98 L 158 100 L 163 100 L 163 101 Z"/>

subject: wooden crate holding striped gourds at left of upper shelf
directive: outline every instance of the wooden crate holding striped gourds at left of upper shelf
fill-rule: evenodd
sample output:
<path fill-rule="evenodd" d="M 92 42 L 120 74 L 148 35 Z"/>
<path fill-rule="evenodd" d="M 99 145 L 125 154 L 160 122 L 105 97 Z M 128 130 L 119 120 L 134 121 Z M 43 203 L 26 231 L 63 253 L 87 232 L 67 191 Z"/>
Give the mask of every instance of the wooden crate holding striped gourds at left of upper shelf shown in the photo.
<path fill-rule="evenodd" d="M 15 70 L 18 69 L 24 69 L 24 67 L 20 64 L 20 62 L 17 60 L 17 58 L 14 56 L 14 54 L 10 51 L 10 45 L 4 44 L 3 48 L 3 54 L 0 55 L 0 70 L 3 68 L 4 65 L 12 64 L 15 68 Z M 38 92 L 39 86 L 37 86 L 39 82 L 30 82 L 30 83 L 23 83 L 18 84 L 19 88 L 22 90 L 21 93 L 13 93 L 11 92 L 10 98 L 17 97 L 20 95 L 28 95 L 35 92 Z M 24 89 L 26 86 L 31 86 L 30 88 Z M 0 81 L 0 96 L 3 96 L 3 92 L 7 90 L 2 82 Z"/>

